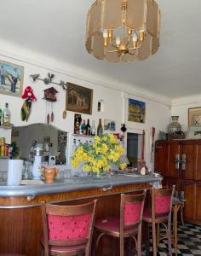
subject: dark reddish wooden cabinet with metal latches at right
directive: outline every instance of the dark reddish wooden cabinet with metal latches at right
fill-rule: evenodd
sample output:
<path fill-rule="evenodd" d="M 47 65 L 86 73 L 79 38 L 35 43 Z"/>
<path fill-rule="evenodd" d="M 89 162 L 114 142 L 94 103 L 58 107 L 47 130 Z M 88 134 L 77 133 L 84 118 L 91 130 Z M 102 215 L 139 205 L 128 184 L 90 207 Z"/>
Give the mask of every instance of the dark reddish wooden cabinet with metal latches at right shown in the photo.
<path fill-rule="evenodd" d="M 184 191 L 184 218 L 201 224 L 201 140 L 156 142 L 155 172 L 159 170 L 164 183 Z"/>

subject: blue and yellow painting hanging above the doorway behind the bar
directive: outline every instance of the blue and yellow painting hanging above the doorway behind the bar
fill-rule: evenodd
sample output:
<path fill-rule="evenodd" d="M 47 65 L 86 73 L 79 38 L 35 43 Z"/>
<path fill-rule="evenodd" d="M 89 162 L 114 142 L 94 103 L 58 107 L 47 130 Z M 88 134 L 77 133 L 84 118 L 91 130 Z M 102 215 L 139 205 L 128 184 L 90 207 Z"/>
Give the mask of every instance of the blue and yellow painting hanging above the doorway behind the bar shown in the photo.
<path fill-rule="evenodd" d="M 145 123 L 146 102 L 140 102 L 135 99 L 129 99 L 129 121 L 136 123 Z"/>

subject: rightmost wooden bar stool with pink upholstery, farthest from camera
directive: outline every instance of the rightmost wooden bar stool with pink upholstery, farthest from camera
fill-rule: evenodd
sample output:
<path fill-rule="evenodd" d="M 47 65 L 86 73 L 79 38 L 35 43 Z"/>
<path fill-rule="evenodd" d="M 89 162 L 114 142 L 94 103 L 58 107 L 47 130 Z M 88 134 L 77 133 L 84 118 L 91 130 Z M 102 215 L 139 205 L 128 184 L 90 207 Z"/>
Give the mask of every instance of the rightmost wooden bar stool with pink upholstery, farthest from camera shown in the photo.
<path fill-rule="evenodd" d="M 168 237 L 168 247 L 169 255 L 172 255 L 171 247 L 171 207 L 172 198 L 174 195 L 175 185 L 170 189 L 154 189 L 152 188 L 152 207 L 145 208 L 143 212 L 143 221 L 148 224 L 147 230 L 147 247 L 146 254 L 149 253 L 149 241 L 150 241 L 150 227 L 152 224 L 152 248 L 153 256 L 157 256 L 157 234 L 156 234 L 156 224 L 167 223 L 167 237 Z"/>

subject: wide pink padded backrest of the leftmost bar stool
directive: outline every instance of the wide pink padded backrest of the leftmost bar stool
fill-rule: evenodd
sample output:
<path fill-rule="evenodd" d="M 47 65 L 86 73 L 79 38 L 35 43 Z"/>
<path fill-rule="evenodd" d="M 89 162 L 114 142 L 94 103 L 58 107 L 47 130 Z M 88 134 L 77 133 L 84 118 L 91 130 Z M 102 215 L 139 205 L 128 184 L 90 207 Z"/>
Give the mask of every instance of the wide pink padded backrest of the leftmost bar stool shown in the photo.
<path fill-rule="evenodd" d="M 88 237 L 91 214 L 58 216 L 47 214 L 49 240 L 69 241 Z"/>

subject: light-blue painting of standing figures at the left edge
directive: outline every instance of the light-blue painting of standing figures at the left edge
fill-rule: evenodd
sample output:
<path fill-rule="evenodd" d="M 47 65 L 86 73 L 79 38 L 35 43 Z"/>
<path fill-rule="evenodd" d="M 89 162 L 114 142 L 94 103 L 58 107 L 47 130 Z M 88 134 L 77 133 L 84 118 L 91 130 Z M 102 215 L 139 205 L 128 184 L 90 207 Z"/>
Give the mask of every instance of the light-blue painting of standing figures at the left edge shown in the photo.
<path fill-rule="evenodd" d="M 0 60 L 0 93 L 21 96 L 24 67 Z"/>

